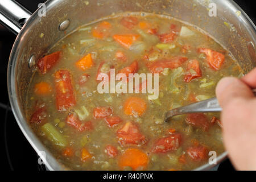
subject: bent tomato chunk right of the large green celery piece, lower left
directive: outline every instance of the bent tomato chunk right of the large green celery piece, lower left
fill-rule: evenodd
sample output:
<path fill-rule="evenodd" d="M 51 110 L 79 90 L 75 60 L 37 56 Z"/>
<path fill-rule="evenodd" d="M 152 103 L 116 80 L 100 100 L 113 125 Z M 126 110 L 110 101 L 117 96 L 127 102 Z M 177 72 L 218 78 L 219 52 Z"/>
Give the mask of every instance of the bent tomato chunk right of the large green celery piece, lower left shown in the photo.
<path fill-rule="evenodd" d="M 69 126 L 75 128 L 77 131 L 80 132 L 89 131 L 93 129 L 92 122 L 87 121 L 85 123 L 82 123 L 75 114 L 69 114 L 66 121 Z"/>

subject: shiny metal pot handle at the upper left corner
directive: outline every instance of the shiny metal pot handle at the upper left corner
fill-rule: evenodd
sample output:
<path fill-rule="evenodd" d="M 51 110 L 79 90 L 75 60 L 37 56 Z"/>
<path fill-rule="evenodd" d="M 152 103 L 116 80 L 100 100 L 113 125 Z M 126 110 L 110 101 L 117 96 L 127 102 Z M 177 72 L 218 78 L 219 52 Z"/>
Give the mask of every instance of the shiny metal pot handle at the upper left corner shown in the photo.
<path fill-rule="evenodd" d="M 18 35 L 32 13 L 14 0 L 0 0 L 0 23 Z"/>

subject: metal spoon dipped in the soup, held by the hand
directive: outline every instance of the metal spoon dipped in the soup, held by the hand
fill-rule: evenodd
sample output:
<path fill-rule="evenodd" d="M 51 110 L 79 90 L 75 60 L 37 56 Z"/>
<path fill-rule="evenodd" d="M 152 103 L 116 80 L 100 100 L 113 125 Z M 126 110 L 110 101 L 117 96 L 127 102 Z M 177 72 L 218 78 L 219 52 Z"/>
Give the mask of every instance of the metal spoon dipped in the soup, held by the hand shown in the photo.
<path fill-rule="evenodd" d="M 253 93 L 256 96 L 256 89 L 253 89 Z M 196 102 L 183 107 L 178 107 L 168 111 L 164 116 L 164 122 L 170 121 L 169 118 L 175 115 L 189 114 L 189 113 L 211 113 L 222 111 L 221 106 L 218 104 L 216 97 L 210 98 L 205 101 Z"/>

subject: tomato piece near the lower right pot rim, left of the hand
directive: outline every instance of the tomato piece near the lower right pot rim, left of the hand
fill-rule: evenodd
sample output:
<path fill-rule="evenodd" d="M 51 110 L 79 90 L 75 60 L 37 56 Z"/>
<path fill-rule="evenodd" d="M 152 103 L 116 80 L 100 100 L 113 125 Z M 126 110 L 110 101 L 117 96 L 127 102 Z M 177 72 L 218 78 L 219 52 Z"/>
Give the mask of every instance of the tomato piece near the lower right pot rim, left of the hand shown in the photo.
<path fill-rule="evenodd" d="M 202 161 L 207 159 L 208 149 L 204 146 L 189 147 L 187 149 L 188 156 L 195 161 Z"/>

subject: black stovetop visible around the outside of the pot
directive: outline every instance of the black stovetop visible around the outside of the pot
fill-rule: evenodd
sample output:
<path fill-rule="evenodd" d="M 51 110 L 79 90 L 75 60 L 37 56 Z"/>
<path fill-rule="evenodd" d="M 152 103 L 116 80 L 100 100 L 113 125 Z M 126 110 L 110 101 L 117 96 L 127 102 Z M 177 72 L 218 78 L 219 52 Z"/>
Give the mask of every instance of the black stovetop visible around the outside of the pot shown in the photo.
<path fill-rule="evenodd" d="M 33 12 L 38 3 L 42 0 L 18 0 L 22 5 L 27 7 Z M 250 16 L 253 22 L 256 22 L 254 0 L 236 0 L 238 5 Z M 10 110 L 9 98 L 7 93 L 6 84 L 6 72 L 7 63 L 11 47 L 14 43 L 15 36 L 5 28 L 0 27 L 0 87 L 2 88 L 0 99 L 0 115 L 2 116 L 2 122 L 0 123 L 1 144 L 4 146 L 1 151 L 2 163 L 1 166 L 6 170 L 29 170 L 29 171 L 41 171 L 45 170 L 44 166 L 38 164 L 38 155 L 27 142 L 20 131 L 13 113 Z M 221 163 L 219 169 L 234 170 L 229 159 L 226 159 Z"/>

